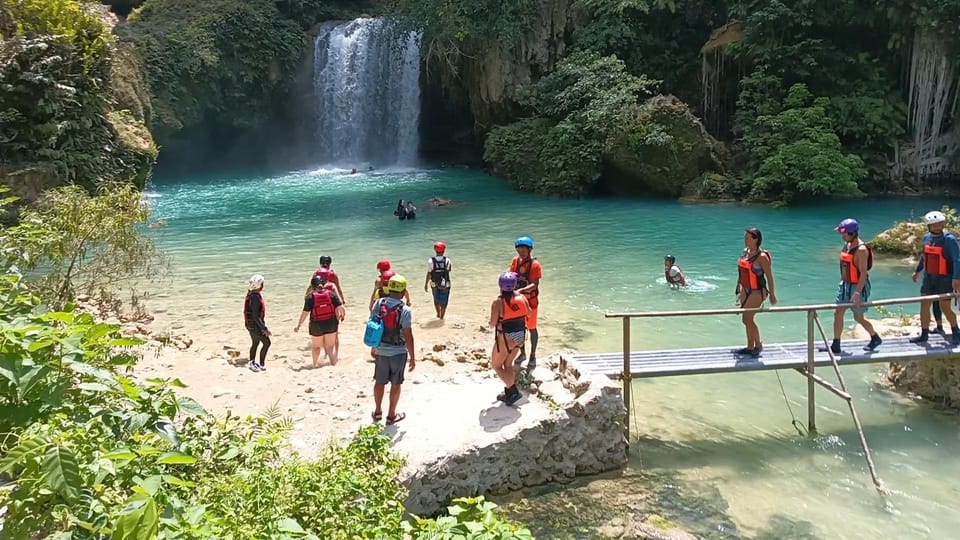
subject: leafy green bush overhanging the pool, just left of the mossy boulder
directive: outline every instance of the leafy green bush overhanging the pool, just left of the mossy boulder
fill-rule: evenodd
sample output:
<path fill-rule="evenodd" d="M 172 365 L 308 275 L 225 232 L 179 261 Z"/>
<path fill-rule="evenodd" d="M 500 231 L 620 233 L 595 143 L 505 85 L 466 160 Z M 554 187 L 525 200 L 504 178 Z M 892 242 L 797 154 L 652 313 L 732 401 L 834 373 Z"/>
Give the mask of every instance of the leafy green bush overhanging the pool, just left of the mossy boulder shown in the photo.
<path fill-rule="evenodd" d="M 484 159 L 518 189 L 562 196 L 593 191 L 617 126 L 657 84 L 626 73 L 615 57 L 568 56 L 525 90 L 537 117 L 494 128 Z"/>

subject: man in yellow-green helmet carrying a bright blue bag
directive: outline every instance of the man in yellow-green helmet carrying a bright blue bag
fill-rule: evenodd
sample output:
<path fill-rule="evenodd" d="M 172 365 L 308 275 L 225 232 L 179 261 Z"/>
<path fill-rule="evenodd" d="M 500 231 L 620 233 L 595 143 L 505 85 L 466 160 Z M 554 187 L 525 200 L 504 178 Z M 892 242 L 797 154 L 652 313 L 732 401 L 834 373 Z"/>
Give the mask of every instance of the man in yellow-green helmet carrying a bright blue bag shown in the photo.
<path fill-rule="evenodd" d="M 397 402 L 400 401 L 403 372 L 405 369 L 413 371 L 417 360 L 413 343 L 413 310 L 402 300 L 407 291 L 407 280 L 395 274 L 387 281 L 386 288 L 387 296 L 376 301 L 371 313 L 371 317 L 378 317 L 383 322 L 383 337 L 371 351 L 374 358 L 372 416 L 374 422 L 383 418 L 383 395 L 389 383 L 387 425 L 390 425 L 407 416 L 397 412 Z"/>

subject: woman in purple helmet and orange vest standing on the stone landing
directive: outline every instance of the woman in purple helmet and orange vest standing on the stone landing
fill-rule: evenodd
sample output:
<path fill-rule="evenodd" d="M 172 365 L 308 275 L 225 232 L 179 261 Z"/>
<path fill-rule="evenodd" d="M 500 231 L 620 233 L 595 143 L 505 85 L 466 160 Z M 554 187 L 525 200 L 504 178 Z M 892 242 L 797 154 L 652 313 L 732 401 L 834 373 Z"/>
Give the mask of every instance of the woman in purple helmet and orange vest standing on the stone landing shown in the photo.
<path fill-rule="evenodd" d="M 526 341 L 526 320 L 533 309 L 527 297 L 517 290 L 519 276 L 516 272 L 500 274 L 499 283 L 500 295 L 490 304 L 490 327 L 494 329 L 490 365 L 504 384 L 497 399 L 513 405 L 522 397 L 513 363 Z"/>

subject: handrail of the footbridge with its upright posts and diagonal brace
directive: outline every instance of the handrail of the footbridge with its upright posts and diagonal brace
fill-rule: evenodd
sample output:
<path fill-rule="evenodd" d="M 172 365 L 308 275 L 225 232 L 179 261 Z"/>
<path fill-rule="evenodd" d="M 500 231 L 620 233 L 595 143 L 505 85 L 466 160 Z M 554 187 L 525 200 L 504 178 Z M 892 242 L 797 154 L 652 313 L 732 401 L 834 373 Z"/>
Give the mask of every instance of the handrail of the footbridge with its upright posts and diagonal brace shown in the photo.
<path fill-rule="evenodd" d="M 840 366 L 837 363 L 837 358 L 830 350 L 830 343 L 827 339 L 826 332 L 823 329 L 823 324 L 821 324 L 820 319 L 817 315 L 818 311 L 826 310 L 836 310 L 837 308 L 866 308 L 866 307 L 879 307 L 879 306 L 893 306 L 893 305 L 903 305 L 903 304 L 915 304 L 921 301 L 940 301 L 940 300 L 949 300 L 957 298 L 958 293 L 949 293 L 949 294 L 939 294 L 939 295 L 926 295 L 926 296 L 913 296 L 908 298 L 891 298 L 888 300 L 877 300 L 874 302 L 863 302 L 860 304 L 811 304 L 811 305 L 801 305 L 801 306 L 774 306 L 774 307 L 759 307 L 759 308 L 728 308 L 728 309 L 699 309 L 699 310 L 681 310 L 681 311 L 640 311 L 640 312 L 620 312 L 620 313 L 607 313 L 604 316 L 608 319 L 621 319 L 623 322 L 623 401 L 627 408 L 627 422 L 626 422 L 626 433 L 629 440 L 630 435 L 630 392 L 631 392 L 631 381 L 632 376 L 630 374 L 630 320 L 631 319 L 643 319 L 643 318 L 662 318 L 662 317 L 697 317 L 697 316 L 707 316 L 707 315 L 741 315 L 743 313 L 800 313 L 805 312 L 807 314 L 807 366 L 804 370 L 798 370 L 801 374 L 805 375 L 807 378 L 807 430 L 810 433 L 815 433 L 817 430 L 816 426 L 816 386 L 820 385 L 831 393 L 839 396 L 847 402 L 847 405 L 850 408 L 850 414 L 853 417 L 854 424 L 857 427 L 857 432 L 860 435 L 860 444 L 863 447 L 864 454 L 867 460 L 867 466 L 870 469 L 870 475 L 873 477 L 874 486 L 877 488 L 877 491 L 881 494 L 886 492 L 883 487 L 882 482 L 877 476 L 876 467 L 873 464 L 873 458 L 870 454 L 870 448 L 867 446 L 867 440 L 863 433 L 863 427 L 860 424 L 860 418 L 857 415 L 856 407 L 853 404 L 853 397 L 847 391 L 846 382 L 844 382 L 843 375 L 840 373 Z M 815 331 L 818 331 L 820 337 L 823 341 L 823 344 L 826 348 L 827 354 L 830 357 L 831 362 L 833 363 L 834 370 L 837 374 L 837 379 L 840 383 L 840 386 L 830 383 L 829 381 L 819 377 L 814 372 L 815 370 L 815 361 L 814 356 L 816 349 L 815 344 Z"/>

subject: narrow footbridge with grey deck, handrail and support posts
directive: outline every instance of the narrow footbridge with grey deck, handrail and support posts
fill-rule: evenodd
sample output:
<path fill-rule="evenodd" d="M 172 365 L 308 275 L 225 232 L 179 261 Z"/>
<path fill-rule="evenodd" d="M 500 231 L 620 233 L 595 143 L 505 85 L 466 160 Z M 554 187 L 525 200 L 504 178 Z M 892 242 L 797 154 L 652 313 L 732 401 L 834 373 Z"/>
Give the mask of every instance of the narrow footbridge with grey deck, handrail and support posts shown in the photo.
<path fill-rule="evenodd" d="M 956 294 L 917 296 L 912 298 L 894 298 L 876 302 L 864 303 L 862 306 L 890 306 L 918 303 L 921 300 L 952 299 Z M 829 350 L 832 336 L 828 338 L 823 324 L 817 314 L 818 311 L 832 312 L 838 307 L 852 308 L 852 304 L 818 304 L 805 306 L 784 306 L 754 309 L 717 309 L 693 311 L 652 311 L 636 313 L 608 313 L 608 319 L 621 319 L 623 323 L 623 351 L 601 354 L 575 354 L 570 358 L 577 363 L 602 373 L 611 378 L 623 381 L 623 401 L 627 408 L 626 434 L 630 435 L 630 391 L 631 381 L 634 378 L 669 377 L 678 375 L 701 375 L 710 373 L 740 373 L 748 371 L 781 370 L 796 371 L 807 378 L 807 430 L 815 433 L 816 427 L 816 388 L 821 386 L 834 395 L 839 396 L 850 408 L 850 414 L 860 434 L 860 444 L 863 447 L 867 466 L 873 477 L 874 486 L 881 494 L 885 488 L 876 473 L 870 448 L 857 416 L 853 403 L 853 396 L 847 391 L 846 382 L 840 372 L 840 366 L 854 364 L 907 362 L 913 360 L 944 359 L 960 356 L 960 347 L 954 347 L 946 338 L 939 334 L 930 334 L 927 343 L 910 343 L 909 338 L 887 338 L 875 351 L 866 352 L 863 346 L 867 340 L 844 340 L 843 351 L 835 355 Z M 632 351 L 630 348 L 630 321 L 639 318 L 663 317 L 693 317 L 740 315 L 745 312 L 757 313 L 796 313 L 807 314 L 807 340 L 797 343 L 765 343 L 759 357 L 740 356 L 736 350 L 742 347 L 702 347 L 695 349 L 668 349 L 657 351 Z M 763 324 L 762 317 L 758 324 Z M 832 321 L 831 321 L 832 324 Z M 818 339 L 819 338 L 819 339 Z M 837 383 L 830 382 L 817 374 L 817 368 L 833 368 L 837 376 Z"/>

